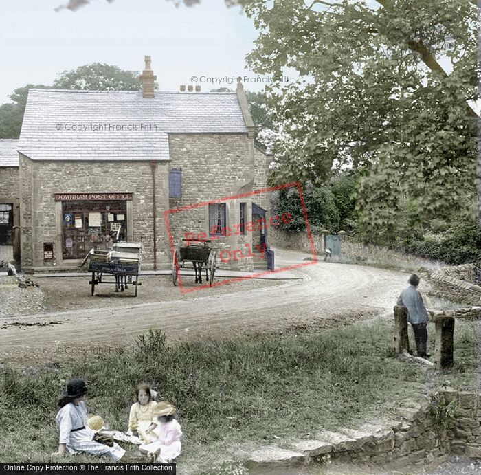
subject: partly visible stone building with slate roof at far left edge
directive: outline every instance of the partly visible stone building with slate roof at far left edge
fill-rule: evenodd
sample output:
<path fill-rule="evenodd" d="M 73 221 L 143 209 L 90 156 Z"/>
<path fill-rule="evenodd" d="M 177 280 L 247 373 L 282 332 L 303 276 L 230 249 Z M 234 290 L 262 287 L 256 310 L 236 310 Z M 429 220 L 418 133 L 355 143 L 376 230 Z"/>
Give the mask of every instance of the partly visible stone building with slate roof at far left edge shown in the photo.
<path fill-rule="evenodd" d="M 18 140 L 0 140 L 0 245 L 12 245 L 12 229 L 19 225 Z"/>

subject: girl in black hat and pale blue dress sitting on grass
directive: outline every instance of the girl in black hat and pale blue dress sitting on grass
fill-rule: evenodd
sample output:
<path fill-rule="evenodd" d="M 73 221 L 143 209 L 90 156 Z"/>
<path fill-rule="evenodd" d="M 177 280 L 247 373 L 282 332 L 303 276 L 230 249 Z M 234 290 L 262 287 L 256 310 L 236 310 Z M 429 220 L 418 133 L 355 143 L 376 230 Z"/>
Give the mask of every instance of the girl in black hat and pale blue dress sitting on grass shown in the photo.
<path fill-rule="evenodd" d="M 109 447 L 94 441 L 95 432 L 86 427 L 87 408 L 82 401 L 85 394 L 87 394 L 87 386 L 85 386 L 83 379 L 76 378 L 69 381 L 67 392 L 58 401 L 60 410 L 55 419 L 60 437 L 58 452 L 54 452 L 52 455 L 64 455 L 68 450 L 70 454 L 86 452 L 87 454 L 104 455 L 117 462 L 124 456 L 125 450 L 118 443 Z"/>

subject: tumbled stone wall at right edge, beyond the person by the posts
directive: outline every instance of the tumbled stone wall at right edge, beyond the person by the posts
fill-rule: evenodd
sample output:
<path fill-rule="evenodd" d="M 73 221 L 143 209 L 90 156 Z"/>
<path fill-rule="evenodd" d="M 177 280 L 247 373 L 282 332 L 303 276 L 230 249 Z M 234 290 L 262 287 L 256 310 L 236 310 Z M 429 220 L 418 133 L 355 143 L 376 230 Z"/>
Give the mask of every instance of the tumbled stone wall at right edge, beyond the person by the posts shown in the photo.
<path fill-rule="evenodd" d="M 476 285 L 476 266 L 463 264 L 443 267 L 430 275 L 434 295 L 453 300 L 481 305 L 481 286 Z"/>

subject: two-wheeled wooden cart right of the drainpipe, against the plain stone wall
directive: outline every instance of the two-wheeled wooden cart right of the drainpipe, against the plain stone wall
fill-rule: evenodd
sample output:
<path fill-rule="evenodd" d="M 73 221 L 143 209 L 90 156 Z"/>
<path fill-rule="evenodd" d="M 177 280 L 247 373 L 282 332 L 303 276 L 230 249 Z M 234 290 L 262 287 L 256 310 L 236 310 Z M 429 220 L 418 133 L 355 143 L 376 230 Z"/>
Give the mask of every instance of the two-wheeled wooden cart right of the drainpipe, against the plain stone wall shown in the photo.
<path fill-rule="evenodd" d="M 172 281 L 177 285 L 181 269 L 194 269 L 195 283 L 202 283 L 202 269 L 205 268 L 205 281 L 212 287 L 216 269 L 219 267 L 216 261 L 216 251 L 208 245 L 210 239 L 183 239 L 186 245 L 180 245 L 174 252 L 172 259 Z M 192 263 L 188 267 L 186 263 Z"/>

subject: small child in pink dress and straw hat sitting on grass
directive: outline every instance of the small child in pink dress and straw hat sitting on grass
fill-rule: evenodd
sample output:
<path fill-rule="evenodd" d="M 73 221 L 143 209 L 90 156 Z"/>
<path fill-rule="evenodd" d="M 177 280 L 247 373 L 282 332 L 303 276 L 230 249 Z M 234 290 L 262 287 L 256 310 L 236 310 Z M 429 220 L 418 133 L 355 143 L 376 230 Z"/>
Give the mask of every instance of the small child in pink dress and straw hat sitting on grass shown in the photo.
<path fill-rule="evenodd" d="M 142 454 L 148 454 L 149 461 L 153 462 L 172 462 L 181 453 L 180 424 L 174 418 L 175 406 L 168 401 L 159 402 L 154 409 L 154 415 L 159 421 L 157 441 L 140 445 L 139 450 Z"/>

